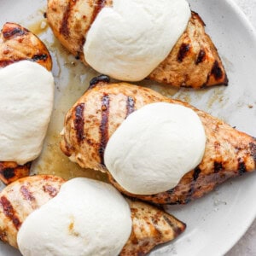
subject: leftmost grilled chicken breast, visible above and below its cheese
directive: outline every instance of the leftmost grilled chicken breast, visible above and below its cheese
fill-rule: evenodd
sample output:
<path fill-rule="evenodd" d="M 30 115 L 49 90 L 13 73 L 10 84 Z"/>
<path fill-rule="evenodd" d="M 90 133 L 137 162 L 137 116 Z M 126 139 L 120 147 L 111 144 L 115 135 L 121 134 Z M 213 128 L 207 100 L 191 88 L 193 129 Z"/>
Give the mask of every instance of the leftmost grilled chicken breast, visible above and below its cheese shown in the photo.
<path fill-rule="evenodd" d="M 22 60 L 38 62 L 49 71 L 52 67 L 49 51 L 37 36 L 18 24 L 5 23 L 0 32 L 0 68 Z M 19 166 L 15 162 L 2 161 L 0 179 L 8 184 L 26 177 L 30 166 L 31 163 Z"/>

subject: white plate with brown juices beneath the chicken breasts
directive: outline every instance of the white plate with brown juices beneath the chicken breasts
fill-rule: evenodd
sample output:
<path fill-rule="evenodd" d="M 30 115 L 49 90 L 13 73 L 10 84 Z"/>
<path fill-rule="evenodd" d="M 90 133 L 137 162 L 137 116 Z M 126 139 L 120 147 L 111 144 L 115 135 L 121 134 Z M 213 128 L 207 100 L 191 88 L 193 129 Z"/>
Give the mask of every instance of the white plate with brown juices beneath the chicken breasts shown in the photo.
<path fill-rule="evenodd" d="M 88 81 L 96 73 L 63 51 L 48 28 L 40 28 L 44 27 L 42 20 L 45 2 L 2 0 L 0 26 L 6 21 L 28 26 L 32 31 L 38 32 L 38 36 L 51 51 L 56 80 L 55 111 L 44 153 L 33 166 L 33 171 L 59 174 L 61 172 L 57 169 L 61 169 L 63 164 L 60 163 L 65 162 L 69 174 L 61 174 L 72 177 L 76 167 L 68 163 L 58 151 L 58 133 L 67 109 L 82 95 Z M 190 3 L 191 8 L 207 24 L 207 32 L 224 61 L 230 84 L 228 87 L 219 86 L 209 90 L 180 90 L 174 97 L 186 100 L 256 137 L 256 36 L 253 27 L 230 0 L 191 0 Z M 151 87 L 165 94 L 173 94 L 175 91 L 150 83 L 153 84 Z M 78 172 L 80 170 L 76 173 Z M 99 178 L 89 172 L 84 176 Z M 252 173 L 224 183 L 211 194 L 189 205 L 167 207 L 187 224 L 187 230 L 176 241 L 158 247 L 151 255 L 172 253 L 178 256 L 217 256 L 226 253 L 255 218 L 255 183 L 256 173 Z M 20 253 L 0 243 L 0 255 Z"/>

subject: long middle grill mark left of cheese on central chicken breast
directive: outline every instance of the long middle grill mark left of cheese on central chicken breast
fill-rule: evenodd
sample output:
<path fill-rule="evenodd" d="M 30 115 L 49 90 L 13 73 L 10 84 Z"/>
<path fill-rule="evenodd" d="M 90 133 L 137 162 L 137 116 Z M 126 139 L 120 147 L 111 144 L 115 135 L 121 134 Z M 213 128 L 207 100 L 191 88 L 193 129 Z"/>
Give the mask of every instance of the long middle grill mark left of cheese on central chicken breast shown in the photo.
<path fill-rule="evenodd" d="M 102 121 L 100 125 L 101 143 L 98 149 L 102 165 L 104 165 L 104 151 L 108 143 L 109 102 L 110 102 L 110 99 L 108 94 L 105 94 L 104 96 L 102 96 Z"/>

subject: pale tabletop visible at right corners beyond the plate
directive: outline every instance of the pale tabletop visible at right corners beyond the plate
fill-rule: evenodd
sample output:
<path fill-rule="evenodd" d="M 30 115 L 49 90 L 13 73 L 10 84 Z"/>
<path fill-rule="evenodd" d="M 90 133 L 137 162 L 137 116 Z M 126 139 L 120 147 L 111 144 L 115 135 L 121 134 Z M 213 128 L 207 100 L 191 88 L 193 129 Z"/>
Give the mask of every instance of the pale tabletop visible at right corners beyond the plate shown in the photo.
<path fill-rule="evenodd" d="M 256 0 L 234 0 L 247 15 L 256 30 Z M 247 233 L 238 241 L 226 256 L 256 255 L 256 219 Z"/>

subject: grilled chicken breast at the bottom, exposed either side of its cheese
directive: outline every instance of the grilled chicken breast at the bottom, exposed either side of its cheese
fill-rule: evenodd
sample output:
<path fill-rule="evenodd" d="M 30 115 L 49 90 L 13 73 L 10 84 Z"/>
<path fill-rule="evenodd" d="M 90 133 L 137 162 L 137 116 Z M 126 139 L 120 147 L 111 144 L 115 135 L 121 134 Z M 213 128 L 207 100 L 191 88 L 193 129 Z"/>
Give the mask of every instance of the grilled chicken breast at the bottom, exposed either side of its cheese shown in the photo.
<path fill-rule="evenodd" d="M 38 175 L 23 177 L 9 184 L 0 193 L 0 239 L 13 247 L 26 217 L 58 194 L 61 177 Z M 148 253 L 156 245 L 172 241 L 186 225 L 172 215 L 140 201 L 128 200 L 131 207 L 131 236 L 120 255 Z"/>

